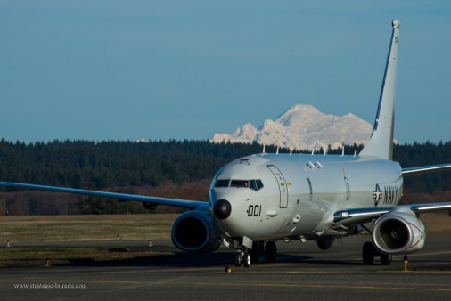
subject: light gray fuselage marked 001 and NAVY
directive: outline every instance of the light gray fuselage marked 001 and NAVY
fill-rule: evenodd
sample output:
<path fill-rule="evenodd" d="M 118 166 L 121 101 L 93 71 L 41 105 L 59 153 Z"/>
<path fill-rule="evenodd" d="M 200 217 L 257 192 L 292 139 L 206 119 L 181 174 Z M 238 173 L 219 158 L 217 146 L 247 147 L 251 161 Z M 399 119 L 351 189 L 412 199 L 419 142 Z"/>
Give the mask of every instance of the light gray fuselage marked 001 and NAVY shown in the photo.
<path fill-rule="evenodd" d="M 316 239 L 347 234 L 344 227 L 332 230 L 339 209 L 398 205 L 402 186 L 401 167 L 387 159 L 258 154 L 223 167 L 211 184 L 210 202 L 231 205 L 230 216 L 214 218 L 225 237 Z"/>

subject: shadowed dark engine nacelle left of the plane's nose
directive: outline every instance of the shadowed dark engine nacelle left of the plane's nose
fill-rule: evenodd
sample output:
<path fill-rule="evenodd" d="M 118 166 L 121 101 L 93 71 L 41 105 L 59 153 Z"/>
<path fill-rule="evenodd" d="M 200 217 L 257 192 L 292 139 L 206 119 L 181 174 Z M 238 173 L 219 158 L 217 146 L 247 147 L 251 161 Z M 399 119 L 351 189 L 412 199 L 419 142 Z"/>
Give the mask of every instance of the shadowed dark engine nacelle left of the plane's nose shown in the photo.
<path fill-rule="evenodd" d="M 178 216 L 172 224 L 171 239 L 176 248 L 200 253 L 213 252 L 222 242 L 208 207 L 199 207 Z"/>

